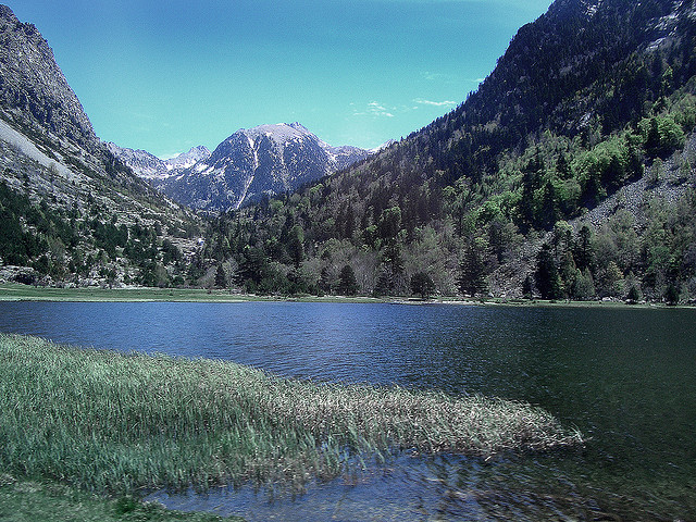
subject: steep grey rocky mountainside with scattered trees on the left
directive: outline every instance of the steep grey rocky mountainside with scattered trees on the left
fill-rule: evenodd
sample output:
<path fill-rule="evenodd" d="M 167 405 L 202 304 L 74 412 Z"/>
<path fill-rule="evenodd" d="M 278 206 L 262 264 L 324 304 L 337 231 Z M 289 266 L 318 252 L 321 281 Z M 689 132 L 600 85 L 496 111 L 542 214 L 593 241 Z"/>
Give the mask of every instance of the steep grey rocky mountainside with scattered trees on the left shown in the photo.
<path fill-rule="evenodd" d="M 166 284 L 200 222 L 99 140 L 38 29 L 0 5 L 0 278 Z"/>

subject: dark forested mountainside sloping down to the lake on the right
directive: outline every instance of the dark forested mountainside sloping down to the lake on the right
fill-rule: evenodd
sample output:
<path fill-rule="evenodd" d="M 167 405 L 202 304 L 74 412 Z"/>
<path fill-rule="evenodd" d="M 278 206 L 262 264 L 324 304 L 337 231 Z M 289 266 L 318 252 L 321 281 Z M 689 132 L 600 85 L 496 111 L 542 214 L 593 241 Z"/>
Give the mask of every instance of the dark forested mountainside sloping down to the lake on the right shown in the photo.
<path fill-rule="evenodd" d="M 210 224 L 248 291 L 688 299 L 696 8 L 559 0 L 455 111 Z"/>

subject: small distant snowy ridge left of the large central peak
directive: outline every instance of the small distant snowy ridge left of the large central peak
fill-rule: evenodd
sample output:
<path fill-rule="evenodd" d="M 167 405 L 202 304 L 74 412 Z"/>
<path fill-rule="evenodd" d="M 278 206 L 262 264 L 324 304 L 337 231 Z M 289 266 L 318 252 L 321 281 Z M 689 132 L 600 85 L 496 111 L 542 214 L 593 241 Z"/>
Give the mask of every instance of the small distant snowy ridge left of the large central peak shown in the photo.
<path fill-rule="evenodd" d="M 198 161 L 203 161 L 210 157 L 210 150 L 202 145 L 192 147 L 188 152 L 183 152 L 167 160 L 161 160 L 147 150 L 126 149 L 112 142 L 107 142 L 105 146 L 111 153 L 129 166 L 134 173 L 153 184 L 176 176 L 184 170 L 194 166 Z"/>

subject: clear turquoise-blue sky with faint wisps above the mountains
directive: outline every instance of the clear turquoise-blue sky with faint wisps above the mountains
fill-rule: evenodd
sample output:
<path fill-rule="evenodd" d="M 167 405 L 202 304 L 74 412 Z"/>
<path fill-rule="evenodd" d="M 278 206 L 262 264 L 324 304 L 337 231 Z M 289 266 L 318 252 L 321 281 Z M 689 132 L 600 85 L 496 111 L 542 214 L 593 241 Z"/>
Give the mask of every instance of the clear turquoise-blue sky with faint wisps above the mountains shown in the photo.
<path fill-rule="evenodd" d="M 551 0 L 4 0 L 97 135 L 170 158 L 299 122 L 373 148 L 463 102 Z"/>

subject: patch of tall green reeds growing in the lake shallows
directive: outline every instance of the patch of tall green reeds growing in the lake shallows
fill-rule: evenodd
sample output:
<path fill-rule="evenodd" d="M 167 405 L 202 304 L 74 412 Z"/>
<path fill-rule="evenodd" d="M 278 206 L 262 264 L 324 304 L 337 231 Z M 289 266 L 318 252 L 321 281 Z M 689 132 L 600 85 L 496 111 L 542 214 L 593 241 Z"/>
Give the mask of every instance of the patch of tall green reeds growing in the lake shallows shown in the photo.
<path fill-rule="evenodd" d="M 107 493 L 333 476 L 398 448 L 581 442 L 542 409 L 0 335 L 0 469 Z"/>

